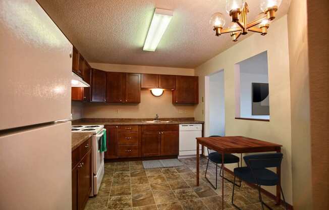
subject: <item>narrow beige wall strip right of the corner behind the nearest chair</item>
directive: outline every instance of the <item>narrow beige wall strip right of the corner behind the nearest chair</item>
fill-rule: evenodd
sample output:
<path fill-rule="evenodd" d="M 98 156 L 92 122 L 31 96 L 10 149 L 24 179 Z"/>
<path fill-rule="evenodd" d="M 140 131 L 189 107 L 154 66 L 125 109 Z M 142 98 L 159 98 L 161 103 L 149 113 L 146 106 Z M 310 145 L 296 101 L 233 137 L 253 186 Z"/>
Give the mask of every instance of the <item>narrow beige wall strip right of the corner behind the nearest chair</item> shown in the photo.
<path fill-rule="evenodd" d="M 288 12 L 294 209 L 312 209 L 306 0 Z"/>

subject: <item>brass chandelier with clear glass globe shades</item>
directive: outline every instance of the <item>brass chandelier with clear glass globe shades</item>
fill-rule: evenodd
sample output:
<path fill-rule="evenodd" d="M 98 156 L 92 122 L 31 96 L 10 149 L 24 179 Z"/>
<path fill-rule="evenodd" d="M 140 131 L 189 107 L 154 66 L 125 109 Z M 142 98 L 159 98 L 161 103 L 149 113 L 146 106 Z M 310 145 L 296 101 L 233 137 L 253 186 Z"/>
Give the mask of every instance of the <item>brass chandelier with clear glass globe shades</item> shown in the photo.
<path fill-rule="evenodd" d="M 229 28 L 223 28 L 225 19 L 222 13 L 215 13 L 210 18 L 210 25 L 213 27 L 216 36 L 222 33 L 231 33 L 233 41 L 238 41 L 241 34 L 245 35 L 248 31 L 266 35 L 269 28 L 269 21 L 276 18 L 276 12 L 282 0 L 260 0 L 260 10 L 262 11 L 257 18 L 247 22 L 248 4 L 245 0 L 226 0 L 226 11 L 232 17 L 232 24 Z M 258 27 L 257 27 L 258 25 Z"/>

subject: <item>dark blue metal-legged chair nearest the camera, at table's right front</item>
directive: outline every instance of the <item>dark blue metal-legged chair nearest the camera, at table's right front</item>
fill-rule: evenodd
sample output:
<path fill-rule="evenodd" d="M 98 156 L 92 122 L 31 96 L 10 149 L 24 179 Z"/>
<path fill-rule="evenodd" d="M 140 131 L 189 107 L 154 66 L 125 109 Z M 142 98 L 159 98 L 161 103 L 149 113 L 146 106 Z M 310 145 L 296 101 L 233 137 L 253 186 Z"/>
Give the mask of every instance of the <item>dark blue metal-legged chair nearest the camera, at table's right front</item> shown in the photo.
<path fill-rule="evenodd" d="M 264 210 L 264 205 L 266 207 L 268 207 L 269 209 L 272 209 L 266 203 L 264 203 L 262 201 L 261 194 L 260 194 L 260 186 L 261 185 L 275 186 L 275 185 L 279 184 L 280 180 L 279 180 L 278 174 L 276 174 L 266 168 L 281 167 L 283 154 L 282 153 L 252 154 L 252 155 L 244 156 L 243 159 L 244 159 L 247 167 L 240 167 L 240 168 L 234 169 L 234 183 L 235 183 L 235 178 L 239 177 L 241 180 L 243 180 L 245 182 L 257 184 L 259 201 L 261 203 L 262 209 Z M 233 185 L 232 204 L 236 208 L 240 209 L 238 206 L 236 206 L 233 203 L 234 186 L 235 185 Z M 281 189 L 283 200 L 286 204 L 286 209 L 288 209 L 281 185 L 280 185 L 280 189 Z"/>

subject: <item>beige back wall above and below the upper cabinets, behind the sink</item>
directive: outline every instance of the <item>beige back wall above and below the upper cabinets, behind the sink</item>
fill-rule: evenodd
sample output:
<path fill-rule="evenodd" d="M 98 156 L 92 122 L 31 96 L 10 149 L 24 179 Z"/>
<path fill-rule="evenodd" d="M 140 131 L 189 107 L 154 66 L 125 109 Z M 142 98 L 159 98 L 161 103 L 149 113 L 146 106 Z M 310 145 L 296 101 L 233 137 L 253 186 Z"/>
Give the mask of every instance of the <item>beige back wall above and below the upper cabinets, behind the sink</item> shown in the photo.
<path fill-rule="evenodd" d="M 135 72 L 149 74 L 194 75 L 193 69 L 134 66 L 91 63 L 92 68 L 104 71 Z M 154 97 L 149 90 L 141 90 L 138 104 L 84 103 L 85 118 L 160 118 L 194 117 L 195 106 L 173 105 L 172 91 L 166 90 L 162 96 Z M 119 111 L 119 113 L 118 113 Z"/>

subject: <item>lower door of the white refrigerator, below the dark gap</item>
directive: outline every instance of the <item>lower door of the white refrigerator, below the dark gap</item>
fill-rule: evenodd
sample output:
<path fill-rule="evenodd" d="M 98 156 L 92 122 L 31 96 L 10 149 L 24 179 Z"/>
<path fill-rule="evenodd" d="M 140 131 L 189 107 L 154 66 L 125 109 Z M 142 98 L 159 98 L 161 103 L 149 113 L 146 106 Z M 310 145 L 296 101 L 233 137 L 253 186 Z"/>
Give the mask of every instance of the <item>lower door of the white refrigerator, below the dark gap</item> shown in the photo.
<path fill-rule="evenodd" d="M 0 209 L 71 209 L 71 122 L 0 135 Z"/>

